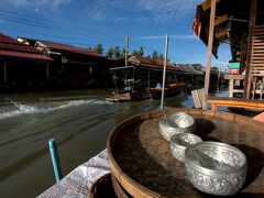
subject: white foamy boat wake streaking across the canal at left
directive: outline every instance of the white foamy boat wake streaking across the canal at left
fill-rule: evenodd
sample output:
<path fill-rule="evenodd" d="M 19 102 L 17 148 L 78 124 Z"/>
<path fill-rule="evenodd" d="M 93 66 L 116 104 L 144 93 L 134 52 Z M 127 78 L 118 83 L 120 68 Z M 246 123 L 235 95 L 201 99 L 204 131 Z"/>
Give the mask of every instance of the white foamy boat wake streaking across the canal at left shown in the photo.
<path fill-rule="evenodd" d="M 22 105 L 12 100 L 11 100 L 11 103 L 13 105 L 14 109 L 0 112 L 0 120 L 18 117 L 22 114 L 47 113 L 47 112 L 53 112 L 53 111 L 63 110 L 67 108 L 79 107 L 84 105 L 112 105 L 112 102 L 107 100 L 72 100 L 72 101 L 64 101 L 64 102 L 55 102 L 53 103 L 53 107 L 48 107 L 48 108 L 43 108 L 43 107 L 40 108 L 37 106 L 32 106 L 32 105 Z"/>

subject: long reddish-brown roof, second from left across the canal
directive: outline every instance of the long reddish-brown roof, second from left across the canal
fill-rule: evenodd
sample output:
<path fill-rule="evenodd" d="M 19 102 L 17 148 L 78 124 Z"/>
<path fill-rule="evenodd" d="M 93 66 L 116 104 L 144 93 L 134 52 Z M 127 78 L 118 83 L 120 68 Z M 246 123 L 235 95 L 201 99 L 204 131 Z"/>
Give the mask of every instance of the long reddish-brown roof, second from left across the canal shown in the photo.
<path fill-rule="evenodd" d="M 77 54 L 88 55 L 88 56 L 103 57 L 98 52 L 91 51 L 88 48 L 81 48 L 81 47 L 76 47 L 68 44 L 53 43 L 47 41 L 40 41 L 40 42 L 51 50 L 72 52 L 72 53 L 77 53 Z"/>

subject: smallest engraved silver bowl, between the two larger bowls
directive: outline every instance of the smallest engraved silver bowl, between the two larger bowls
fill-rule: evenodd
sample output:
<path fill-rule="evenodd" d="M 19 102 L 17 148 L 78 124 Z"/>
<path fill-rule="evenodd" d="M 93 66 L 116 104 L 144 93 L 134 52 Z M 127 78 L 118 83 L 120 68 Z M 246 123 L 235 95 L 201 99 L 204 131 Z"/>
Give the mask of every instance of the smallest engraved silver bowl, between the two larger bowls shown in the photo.
<path fill-rule="evenodd" d="M 185 162 L 185 150 L 198 142 L 202 142 L 202 140 L 190 133 L 179 133 L 172 136 L 170 143 L 170 151 L 175 158 Z"/>

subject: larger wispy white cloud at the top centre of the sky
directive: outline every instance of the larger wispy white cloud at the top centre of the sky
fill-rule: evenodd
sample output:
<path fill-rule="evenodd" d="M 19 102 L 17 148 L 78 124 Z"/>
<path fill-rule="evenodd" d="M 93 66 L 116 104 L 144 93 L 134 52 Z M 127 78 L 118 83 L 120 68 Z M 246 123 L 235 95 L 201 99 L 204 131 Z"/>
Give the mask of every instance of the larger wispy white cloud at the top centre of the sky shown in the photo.
<path fill-rule="evenodd" d="M 87 8 L 87 13 L 88 16 L 95 21 L 170 22 L 194 12 L 196 4 L 201 1 L 202 0 L 98 0 Z M 128 15 L 130 15 L 130 18 L 128 18 Z"/>

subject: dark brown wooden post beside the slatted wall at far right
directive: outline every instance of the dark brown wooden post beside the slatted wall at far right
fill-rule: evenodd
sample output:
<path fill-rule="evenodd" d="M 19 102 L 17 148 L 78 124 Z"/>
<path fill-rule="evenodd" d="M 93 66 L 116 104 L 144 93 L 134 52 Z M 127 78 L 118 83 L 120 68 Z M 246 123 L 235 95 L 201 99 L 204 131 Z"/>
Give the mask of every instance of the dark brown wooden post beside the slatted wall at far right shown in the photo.
<path fill-rule="evenodd" d="M 249 28 L 249 37 L 248 37 L 248 56 L 246 56 L 246 68 L 245 68 L 245 86 L 244 86 L 244 97 L 250 98 L 251 89 L 251 64 L 253 56 L 253 38 L 254 38 L 254 29 L 255 29 L 255 19 L 256 19 L 256 0 L 251 0 L 251 13 L 250 13 L 250 28 Z M 250 50 L 251 48 L 251 50 Z"/>

